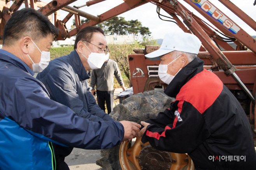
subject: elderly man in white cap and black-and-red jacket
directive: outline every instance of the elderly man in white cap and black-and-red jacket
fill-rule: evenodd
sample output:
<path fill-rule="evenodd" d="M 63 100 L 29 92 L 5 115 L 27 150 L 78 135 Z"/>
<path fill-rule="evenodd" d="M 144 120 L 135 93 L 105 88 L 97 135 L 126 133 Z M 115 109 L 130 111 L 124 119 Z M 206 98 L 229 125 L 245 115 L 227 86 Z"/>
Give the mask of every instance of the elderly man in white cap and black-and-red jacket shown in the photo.
<path fill-rule="evenodd" d="M 256 169 L 251 127 L 242 106 L 221 80 L 203 69 L 193 34 L 165 35 L 159 50 L 146 55 L 161 60 L 158 76 L 165 94 L 176 100 L 156 118 L 141 122 L 143 143 L 174 153 L 188 153 L 196 170 Z"/>

